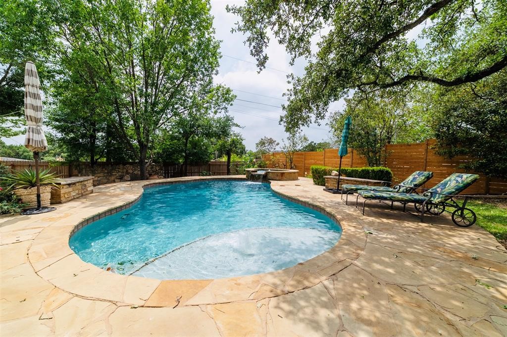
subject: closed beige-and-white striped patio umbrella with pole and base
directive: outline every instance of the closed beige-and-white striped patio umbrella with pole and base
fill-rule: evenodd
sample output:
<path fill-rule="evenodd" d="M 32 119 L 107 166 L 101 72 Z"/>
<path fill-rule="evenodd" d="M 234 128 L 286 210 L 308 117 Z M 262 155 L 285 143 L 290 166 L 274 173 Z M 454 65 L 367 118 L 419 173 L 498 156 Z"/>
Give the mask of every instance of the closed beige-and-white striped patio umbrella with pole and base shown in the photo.
<path fill-rule="evenodd" d="M 54 207 L 41 207 L 41 183 L 39 181 L 39 153 L 48 149 L 48 142 L 42 129 L 41 82 L 35 64 L 28 61 L 25 65 L 25 147 L 33 152 L 35 176 L 37 179 L 37 208 L 30 208 L 21 214 L 39 214 L 55 210 Z"/>

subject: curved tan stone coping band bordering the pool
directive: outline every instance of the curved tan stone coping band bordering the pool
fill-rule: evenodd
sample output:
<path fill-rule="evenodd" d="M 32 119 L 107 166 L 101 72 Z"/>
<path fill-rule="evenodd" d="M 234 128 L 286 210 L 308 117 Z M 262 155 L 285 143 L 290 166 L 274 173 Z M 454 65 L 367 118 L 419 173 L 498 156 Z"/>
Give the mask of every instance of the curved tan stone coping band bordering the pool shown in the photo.
<path fill-rule="evenodd" d="M 71 219 L 64 223 L 57 221 L 44 228 L 33 240 L 28 250 L 28 260 L 37 275 L 83 298 L 135 306 L 173 307 L 177 294 L 181 296 L 178 304 L 184 306 L 258 300 L 309 288 L 348 267 L 363 252 L 366 234 L 357 224 L 339 219 L 336 209 L 281 193 L 274 184 L 272 190 L 282 198 L 320 211 L 340 223 L 343 232 L 337 244 L 308 261 L 275 272 L 225 279 L 162 281 L 107 272 L 84 262 L 69 247 L 68 240 L 76 231 L 93 221 L 131 207 L 140 199 L 145 188 L 199 180 L 244 179 L 219 176 L 130 182 L 128 198 L 110 199 L 106 207 L 76 210 Z M 118 194 L 125 194 L 121 186 L 122 183 L 118 183 L 111 187 L 120 187 Z M 101 187 L 106 194 L 116 194 L 108 191 L 107 185 Z M 93 195 L 88 197 L 93 198 Z M 111 206 L 112 203 L 114 206 Z"/>

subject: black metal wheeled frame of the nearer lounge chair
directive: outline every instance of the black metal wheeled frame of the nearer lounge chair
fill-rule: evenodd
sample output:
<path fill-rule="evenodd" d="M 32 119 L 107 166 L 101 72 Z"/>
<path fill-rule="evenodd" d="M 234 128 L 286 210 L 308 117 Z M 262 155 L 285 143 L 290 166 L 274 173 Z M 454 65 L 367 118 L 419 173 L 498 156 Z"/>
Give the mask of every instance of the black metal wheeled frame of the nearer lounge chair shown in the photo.
<path fill-rule="evenodd" d="M 454 224 L 456 224 L 456 226 L 459 226 L 459 227 L 470 227 L 477 221 L 476 213 L 472 209 L 466 207 L 466 203 L 473 196 L 449 195 L 449 194 L 443 194 L 443 193 L 438 193 L 438 192 L 430 192 L 430 191 L 427 191 L 427 189 L 421 189 L 421 188 L 411 188 L 411 189 L 413 189 L 413 192 L 416 192 L 415 190 L 425 191 L 422 194 L 422 196 L 426 197 L 426 200 L 424 200 L 423 202 L 393 200 L 393 201 L 391 201 L 391 209 L 392 209 L 394 202 L 399 202 L 399 203 L 403 204 L 403 211 L 405 212 L 407 204 L 413 203 L 414 208 L 418 212 L 421 213 L 421 216 L 420 216 L 421 222 L 424 222 L 424 213 L 430 213 L 430 214 L 440 216 L 444 212 L 450 213 L 452 222 L 454 222 Z M 416 194 L 417 194 L 417 192 L 416 192 Z M 449 198 L 442 201 L 442 202 L 434 203 L 430 199 L 433 197 L 433 195 L 436 195 L 436 194 L 441 195 L 441 196 L 446 196 Z M 463 200 L 463 203 L 460 205 L 455 200 L 456 198 L 465 198 L 465 199 Z M 357 195 L 355 207 L 357 207 L 358 199 L 359 199 L 359 195 Z M 363 200 L 363 215 L 365 215 L 365 206 L 366 206 L 366 202 L 368 200 L 378 200 L 380 202 L 390 201 L 390 200 L 380 199 L 380 198 L 378 198 L 378 199 L 377 198 L 363 198 L 363 199 L 364 199 Z M 448 208 L 451 208 L 451 210 L 449 210 Z"/>

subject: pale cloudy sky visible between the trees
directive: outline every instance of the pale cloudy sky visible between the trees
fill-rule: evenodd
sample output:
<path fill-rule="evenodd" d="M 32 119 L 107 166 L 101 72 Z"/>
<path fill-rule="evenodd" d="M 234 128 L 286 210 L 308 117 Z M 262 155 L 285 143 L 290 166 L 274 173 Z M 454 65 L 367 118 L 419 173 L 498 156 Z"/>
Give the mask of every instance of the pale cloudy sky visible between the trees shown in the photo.
<path fill-rule="evenodd" d="M 294 66 L 289 65 L 290 57 L 285 48 L 280 46 L 272 37 L 267 48 L 269 60 L 267 68 L 257 72 L 255 59 L 250 56 L 247 46 L 243 44 L 245 36 L 241 33 L 231 33 L 231 28 L 239 18 L 227 13 L 226 5 L 241 5 L 243 1 L 211 0 L 211 13 L 214 16 L 213 25 L 216 38 L 222 41 L 220 51 L 219 74 L 215 76 L 216 84 L 224 84 L 233 89 L 237 95 L 234 105 L 229 109 L 234 116 L 247 149 L 255 149 L 255 144 L 264 136 L 272 137 L 282 144 L 287 135 L 284 127 L 279 125 L 279 118 L 283 114 L 281 104 L 286 103 L 282 94 L 289 88 L 287 74 L 304 74 L 306 60 L 298 59 Z M 330 110 L 343 107 L 343 102 L 335 102 Z M 327 140 L 331 136 L 327 121 L 303 128 L 303 133 L 313 141 Z M 8 144 L 22 144 L 24 135 L 13 138 L 2 138 Z"/>

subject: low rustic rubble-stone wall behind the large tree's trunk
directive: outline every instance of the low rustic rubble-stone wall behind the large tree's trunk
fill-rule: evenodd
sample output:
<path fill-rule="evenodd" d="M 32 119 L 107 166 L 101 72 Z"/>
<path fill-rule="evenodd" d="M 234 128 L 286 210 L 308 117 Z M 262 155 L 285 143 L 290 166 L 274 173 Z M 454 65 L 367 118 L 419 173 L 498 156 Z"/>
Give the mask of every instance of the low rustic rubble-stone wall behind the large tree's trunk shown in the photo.
<path fill-rule="evenodd" d="M 163 165 L 150 164 L 146 168 L 146 173 L 150 177 L 163 178 Z M 93 176 L 93 185 L 103 185 L 113 182 L 123 182 L 139 180 L 139 164 L 130 163 L 106 163 L 98 162 L 90 165 L 87 162 L 77 162 L 70 164 L 70 176 Z"/>

